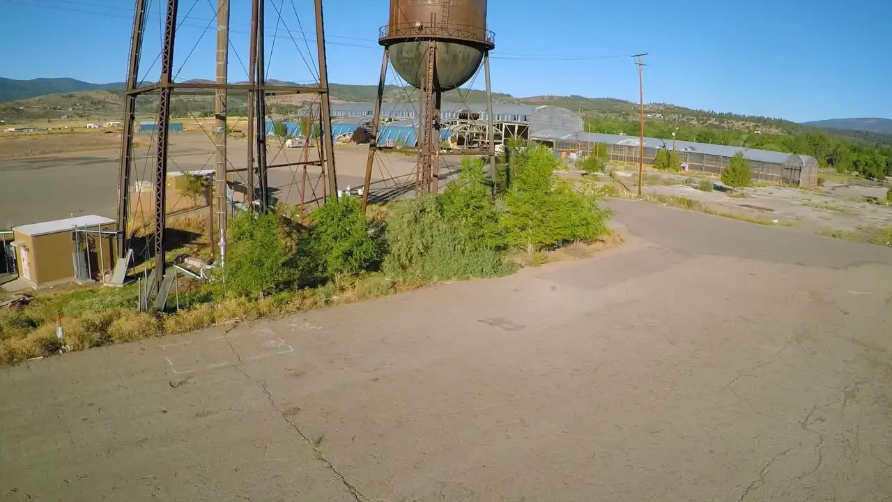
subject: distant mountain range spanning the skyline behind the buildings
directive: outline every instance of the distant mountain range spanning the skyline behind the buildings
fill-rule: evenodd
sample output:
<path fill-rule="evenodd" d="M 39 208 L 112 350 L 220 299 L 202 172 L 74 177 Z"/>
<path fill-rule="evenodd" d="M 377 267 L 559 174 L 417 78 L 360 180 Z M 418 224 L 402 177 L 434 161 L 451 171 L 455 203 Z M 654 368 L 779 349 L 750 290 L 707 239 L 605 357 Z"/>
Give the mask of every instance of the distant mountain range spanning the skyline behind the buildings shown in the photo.
<path fill-rule="evenodd" d="M 297 85 L 280 80 L 269 80 L 268 83 Z M 30 80 L 0 78 L 0 120 L 55 119 L 68 111 L 72 112 L 74 116 L 89 117 L 91 119 L 105 116 L 113 117 L 120 114 L 118 102 L 122 103 L 120 95 L 123 88 L 124 84 L 121 82 L 95 84 L 68 78 Z M 333 99 L 350 102 L 374 101 L 377 91 L 374 85 L 330 84 L 329 88 Z M 384 98 L 389 101 L 415 101 L 418 97 L 417 92 L 417 89 L 387 86 Z M 446 102 L 458 102 L 459 96 L 456 96 L 456 93 L 457 91 L 446 93 L 443 100 Z M 208 104 L 203 102 L 202 99 L 204 97 L 206 96 L 189 96 L 189 103 L 193 104 L 191 109 L 193 113 L 205 112 L 204 108 Z M 287 99 L 287 97 L 289 96 L 273 98 L 274 106 L 277 106 L 281 113 L 293 112 L 293 109 L 296 109 L 300 104 L 299 99 Z M 234 98 L 236 107 L 240 103 L 239 99 L 244 102 L 244 98 Z M 558 105 L 586 115 L 591 114 L 615 119 L 634 118 L 638 107 L 637 104 L 620 99 L 588 98 L 584 96 L 516 97 L 508 94 L 493 93 L 493 100 L 496 103 Z M 485 93 L 479 90 L 461 91 L 460 101 L 482 103 L 485 101 Z M 145 111 L 149 111 L 151 107 L 152 104 L 146 103 Z M 646 111 L 652 116 L 673 116 L 677 120 L 692 124 L 720 125 L 731 129 L 761 129 L 767 132 L 794 128 L 802 129 L 800 126 L 807 126 L 823 130 L 859 131 L 870 134 L 892 135 L 892 120 L 882 118 L 833 119 L 798 124 L 792 121 L 782 121 L 767 117 L 703 112 L 667 104 L 648 104 L 646 105 Z"/>

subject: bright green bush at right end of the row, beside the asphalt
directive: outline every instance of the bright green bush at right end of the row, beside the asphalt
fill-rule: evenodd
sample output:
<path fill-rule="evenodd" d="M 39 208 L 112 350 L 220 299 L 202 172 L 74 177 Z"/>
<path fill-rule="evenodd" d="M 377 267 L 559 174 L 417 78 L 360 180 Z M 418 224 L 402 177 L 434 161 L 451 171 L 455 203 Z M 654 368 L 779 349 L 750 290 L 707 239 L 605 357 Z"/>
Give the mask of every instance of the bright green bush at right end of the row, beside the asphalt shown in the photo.
<path fill-rule="evenodd" d="M 607 233 L 607 213 L 595 197 L 581 196 L 568 181 L 557 179 L 558 161 L 548 148 L 530 148 L 527 155 L 526 166 L 505 195 L 501 223 L 509 245 L 525 247 L 532 256 L 541 247 Z"/>

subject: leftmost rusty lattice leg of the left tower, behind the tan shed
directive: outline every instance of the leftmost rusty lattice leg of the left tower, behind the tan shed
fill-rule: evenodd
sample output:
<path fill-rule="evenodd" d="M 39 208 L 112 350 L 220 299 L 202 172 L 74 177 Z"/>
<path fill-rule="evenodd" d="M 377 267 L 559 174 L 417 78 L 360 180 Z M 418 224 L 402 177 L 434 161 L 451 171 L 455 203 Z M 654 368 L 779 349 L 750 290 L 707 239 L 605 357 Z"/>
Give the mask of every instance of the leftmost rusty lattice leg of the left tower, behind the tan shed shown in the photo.
<path fill-rule="evenodd" d="M 145 29 L 145 0 L 136 0 L 136 13 L 133 17 L 133 34 L 130 38 L 130 57 L 127 67 L 127 90 L 132 91 L 139 85 L 139 59 L 143 52 Z M 124 130 L 121 133 L 120 172 L 118 174 L 118 222 L 120 245 L 117 255 L 123 258 L 129 247 L 127 223 L 130 216 L 130 172 L 133 164 L 133 135 L 136 123 L 136 95 L 128 94 L 124 98 Z"/>

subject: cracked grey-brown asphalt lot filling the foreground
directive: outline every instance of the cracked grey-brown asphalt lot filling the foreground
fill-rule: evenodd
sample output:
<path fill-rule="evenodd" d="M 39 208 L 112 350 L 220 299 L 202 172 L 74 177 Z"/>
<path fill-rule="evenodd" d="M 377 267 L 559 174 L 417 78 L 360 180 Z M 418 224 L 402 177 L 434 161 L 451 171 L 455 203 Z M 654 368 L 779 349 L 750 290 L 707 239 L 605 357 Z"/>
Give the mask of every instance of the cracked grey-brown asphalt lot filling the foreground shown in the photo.
<path fill-rule="evenodd" d="M 892 250 L 634 201 L 593 259 L 0 372 L 4 500 L 889 500 Z"/>

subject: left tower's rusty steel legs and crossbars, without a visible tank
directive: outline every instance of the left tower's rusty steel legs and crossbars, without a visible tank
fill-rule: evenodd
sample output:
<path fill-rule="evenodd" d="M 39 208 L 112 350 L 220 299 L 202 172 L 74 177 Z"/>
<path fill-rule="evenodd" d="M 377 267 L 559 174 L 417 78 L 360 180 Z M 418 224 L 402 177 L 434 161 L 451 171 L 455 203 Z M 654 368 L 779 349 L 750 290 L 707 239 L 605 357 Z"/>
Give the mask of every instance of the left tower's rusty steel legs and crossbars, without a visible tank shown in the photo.
<path fill-rule="evenodd" d="M 140 63 L 143 59 L 143 42 L 145 38 L 146 19 L 149 13 L 148 0 L 135 0 L 136 12 L 134 14 L 133 31 L 130 40 L 130 52 L 128 58 L 128 78 L 125 89 L 125 111 L 123 126 L 123 139 L 121 144 L 120 176 L 118 188 L 118 218 L 117 235 L 120 238 L 116 255 L 118 264 L 115 267 L 114 281 L 123 281 L 133 256 L 128 239 L 130 237 L 130 180 L 133 173 L 133 143 L 136 129 L 136 99 L 140 96 L 157 96 L 158 120 L 153 123 L 145 123 L 145 131 L 152 132 L 155 147 L 153 171 L 153 235 L 150 236 L 146 247 L 147 259 L 153 260 L 153 271 L 146 297 L 156 298 L 155 308 L 163 308 L 167 290 L 172 283 L 171 274 L 165 274 L 165 244 L 166 244 L 166 215 L 167 215 L 167 186 L 168 186 L 168 162 L 169 162 L 169 133 L 178 130 L 176 124 L 170 122 L 171 98 L 175 93 L 185 92 L 190 95 L 210 94 L 215 96 L 216 127 L 214 140 L 216 155 L 216 172 L 213 176 L 215 187 L 213 199 L 215 204 L 212 210 L 216 212 L 217 230 L 219 231 L 219 257 L 220 264 L 226 255 L 226 227 L 229 213 L 227 194 L 231 193 L 227 184 L 229 173 L 244 171 L 247 173 L 247 208 L 249 211 L 266 211 L 268 208 L 268 178 L 267 170 L 270 167 L 289 167 L 296 165 L 318 165 L 325 173 L 329 192 L 334 193 L 337 187 L 335 173 L 334 144 L 330 134 L 323 134 L 320 142 L 321 152 L 318 161 L 304 160 L 298 163 L 284 163 L 269 165 L 267 161 L 266 142 L 266 96 L 275 94 L 278 96 L 289 94 L 314 94 L 319 96 L 320 121 L 324 131 L 331 130 L 328 96 L 328 78 L 326 68 L 325 30 L 322 13 L 322 0 L 314 0 L 316 18 L 316 46 L 318 52 L 318 81 L 316 85 L 297 86 L 287 84 L 271 85 L 267 83 L 268 62 L 265 48 L 265 34 L 268 25 L 265 21 L 265 0 L 252 0 L 251 7 L 251 34 L 249 37 L 248 57 L 248 81 L 235 84 L 228 80 L 228 53 L 231 47 L 229 40 L 229 7 L 230 0 L 217 0 L 217 51 L 216 51 L 216 79 L 214 82 L 206 80 L 175 81 L 174 54 L 177 47 L 177 30 L 179 1 L 164 0 L 162 16 L 161 39 L 161 74 L 158 82 L 144 85 L 145 78 L 140 73 Z M 213 6 L 213 4 L 211 4 Z M 190 11 L 191 12 L 191 11 Z M 188 13 L 186 13 L 188 15 Z M 279 13 L 281 17 L 281 13 Z M 276 21 L 274 19 L 274 21 Z M 279 19 L 281 21 L 281 19 Z M 277 24 L 278 28 L 278 24 Z M 296 45 L 296 44 L 295 44 Z M 187 47 L 186 47 L 187 48 Z M 186 54 L 186 59 L 194 51 Z M 227 96 L 241 95 L 248 99 L 248 121 L 246 136 L 248 137 L 248 153 L 246 167 L 244 169 L 230 169 L 231 162 L 227 159 Z M 139 130 L 144 126 L 140 125 Z M 209 137 L 211 135 L 209 134 Z M 212 230 L 211 230 L 212 231 Z M 209 233 L 211 233 L 209 231 Z M 151 255 L 149 255 L 151 253 Z"/>

